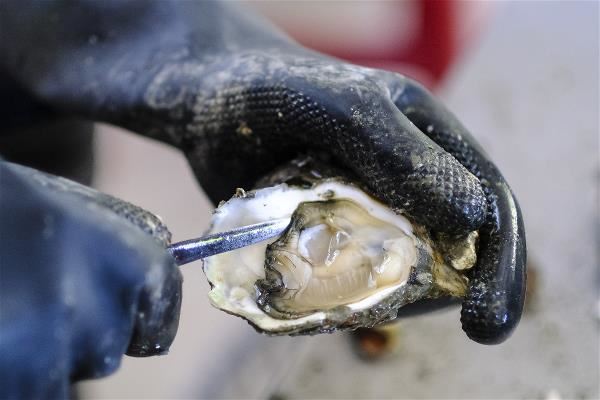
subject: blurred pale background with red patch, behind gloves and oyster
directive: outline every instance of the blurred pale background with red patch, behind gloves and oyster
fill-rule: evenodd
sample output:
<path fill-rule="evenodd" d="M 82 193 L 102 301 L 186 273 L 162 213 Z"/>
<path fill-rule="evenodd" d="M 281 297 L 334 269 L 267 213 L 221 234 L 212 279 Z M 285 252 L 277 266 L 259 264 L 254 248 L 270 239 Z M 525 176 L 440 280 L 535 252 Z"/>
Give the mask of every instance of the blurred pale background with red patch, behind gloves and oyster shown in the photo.
<path fill-rule="evenodd" d="M 183 267 L 168 356 L 126 357 L 89 398 L 540 398 L 599 396 L 598 2 L 250 2 L 301 43 L 403 72 L 446 102 L 491 155 L 525 217 L 530 288 L 506 343 L 469 341 L 459 309 L 406 320 L 366 362 L 346 334 L 269 338 L 211 308 Z M 93 185 L 162 216 L 182 240 L 212 205 L 183 156 L 99 125 Z"/>

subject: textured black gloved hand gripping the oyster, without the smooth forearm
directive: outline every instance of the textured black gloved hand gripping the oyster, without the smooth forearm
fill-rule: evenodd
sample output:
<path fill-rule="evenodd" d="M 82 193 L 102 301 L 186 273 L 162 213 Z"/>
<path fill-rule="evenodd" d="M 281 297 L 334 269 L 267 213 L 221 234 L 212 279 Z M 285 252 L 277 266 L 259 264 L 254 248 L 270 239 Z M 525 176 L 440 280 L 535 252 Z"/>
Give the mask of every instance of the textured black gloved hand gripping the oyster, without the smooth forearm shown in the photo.
<path fill-rule="evenodd" d="M 194 67 L 164 66 L 144 99 L 165 113 L 167 130 L 215 202 L 299 152 L 327 152 L 434 231 L 481 228 L 463 329 L 485 344 L 510 335 L 525 290 L 518 204 L 472 136 L 427 90 L 398 74 L 306 52 L 252 50 L 187 66 Z M 174 110 L 188 116 L 185 125 L 168 117 Z"/>

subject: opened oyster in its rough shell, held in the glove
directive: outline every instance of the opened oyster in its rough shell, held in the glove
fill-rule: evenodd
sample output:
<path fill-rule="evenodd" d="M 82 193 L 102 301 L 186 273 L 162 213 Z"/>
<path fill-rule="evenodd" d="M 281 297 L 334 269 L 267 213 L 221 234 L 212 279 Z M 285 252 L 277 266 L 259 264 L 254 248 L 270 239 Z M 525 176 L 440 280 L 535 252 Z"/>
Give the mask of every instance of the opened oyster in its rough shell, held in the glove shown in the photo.
<path fill-rule="evenodd" d="M 211 233 L 284 217 L 280 238 L 204 260 L 211 303 L 261 332 L 372 327 L 408 303 L 466 292 L 476 232 L 436 243 L 341 179 L 238 192 L 215 211 Z"/>

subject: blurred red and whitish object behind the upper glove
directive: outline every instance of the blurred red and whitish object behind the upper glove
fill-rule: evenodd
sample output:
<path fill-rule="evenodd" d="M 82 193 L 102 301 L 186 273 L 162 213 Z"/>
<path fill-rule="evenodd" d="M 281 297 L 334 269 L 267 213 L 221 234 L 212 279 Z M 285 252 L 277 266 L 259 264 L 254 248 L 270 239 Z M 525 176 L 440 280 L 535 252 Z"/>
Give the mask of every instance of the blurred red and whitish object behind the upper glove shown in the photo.
<path fill-rule="evenodd" d="M 477 36 L 490 3 L 462 0 L 255 1 L 309 48 L 438 86 Z"/>

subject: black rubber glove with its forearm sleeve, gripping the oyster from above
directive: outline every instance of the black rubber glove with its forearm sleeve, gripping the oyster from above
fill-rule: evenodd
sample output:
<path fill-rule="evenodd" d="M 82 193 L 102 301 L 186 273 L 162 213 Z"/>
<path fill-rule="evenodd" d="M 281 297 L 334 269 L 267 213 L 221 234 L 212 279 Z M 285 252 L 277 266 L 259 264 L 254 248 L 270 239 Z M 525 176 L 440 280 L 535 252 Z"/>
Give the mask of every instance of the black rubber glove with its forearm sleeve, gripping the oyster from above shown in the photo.
<path fill-rule="evenodd" d="M 498 343 L 518 323 L 525 237 L 516 200 L 462 125 L 415 82 L 306 50 L 229 3 L 7 9 L 5 69 L 63 111 L 179 147 L 214 201 L 317 150 L 433 230 L 481 228 L 463 329 Z"/>

